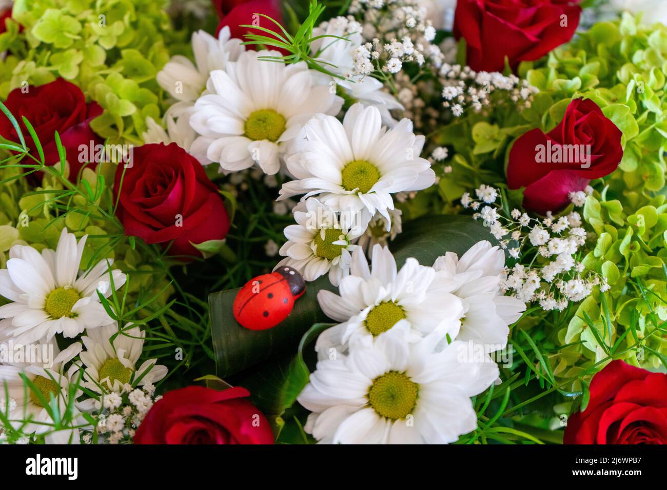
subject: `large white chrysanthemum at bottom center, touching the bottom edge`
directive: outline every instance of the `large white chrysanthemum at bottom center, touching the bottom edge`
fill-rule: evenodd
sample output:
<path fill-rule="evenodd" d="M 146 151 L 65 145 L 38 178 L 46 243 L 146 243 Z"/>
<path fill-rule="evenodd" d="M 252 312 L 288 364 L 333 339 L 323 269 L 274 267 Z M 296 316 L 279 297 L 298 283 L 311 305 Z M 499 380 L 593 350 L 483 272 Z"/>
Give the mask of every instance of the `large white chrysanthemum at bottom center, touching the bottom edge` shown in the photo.
<path fill-rule="evenodd" d="M 442 333 L 408 342 L 407 325 L 362 339 L 348 355 L 321 360 L 298 397 L 319 443 L 443 444 L 477 427 L 470 397 L 498 377 L 498 365 L 461 358 L 454 341 L 434 353 Z"/>

